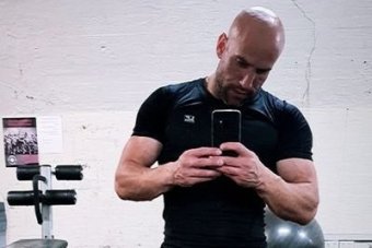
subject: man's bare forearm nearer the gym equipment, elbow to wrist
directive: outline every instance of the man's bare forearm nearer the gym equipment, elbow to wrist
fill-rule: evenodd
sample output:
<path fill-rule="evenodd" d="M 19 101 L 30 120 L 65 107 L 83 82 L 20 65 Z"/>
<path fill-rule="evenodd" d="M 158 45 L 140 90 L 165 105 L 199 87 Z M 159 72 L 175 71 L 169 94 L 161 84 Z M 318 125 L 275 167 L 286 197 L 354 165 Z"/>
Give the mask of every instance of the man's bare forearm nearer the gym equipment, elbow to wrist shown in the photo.
<path fill-rule="evenodd" d="M 168 191 L 173 187 L 172 163 L 148 168 L 126 164 L 115 177 L 115 190 L 123 200 L 147 201 Z"/>

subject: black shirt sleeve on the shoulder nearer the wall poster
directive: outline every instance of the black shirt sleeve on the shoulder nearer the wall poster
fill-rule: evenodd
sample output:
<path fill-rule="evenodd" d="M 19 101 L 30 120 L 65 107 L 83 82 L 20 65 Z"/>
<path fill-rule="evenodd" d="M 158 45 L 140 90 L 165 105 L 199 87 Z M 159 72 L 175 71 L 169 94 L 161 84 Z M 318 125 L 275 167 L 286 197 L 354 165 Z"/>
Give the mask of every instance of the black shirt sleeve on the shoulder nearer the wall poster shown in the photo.
<path fill-rule="evenodd" d="M 150 137 L 163 143 L 168 108 L 172 106 L 166 87 L 154 91 L 141 105 L 132 135 Z"/>

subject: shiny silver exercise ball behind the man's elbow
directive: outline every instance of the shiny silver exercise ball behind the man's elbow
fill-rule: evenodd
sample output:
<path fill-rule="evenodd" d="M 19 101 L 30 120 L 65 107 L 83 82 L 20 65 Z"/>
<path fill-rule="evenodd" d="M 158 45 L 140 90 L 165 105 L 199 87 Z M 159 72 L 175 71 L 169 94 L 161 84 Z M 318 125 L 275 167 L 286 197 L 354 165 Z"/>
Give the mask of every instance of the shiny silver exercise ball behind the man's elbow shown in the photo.
<path fill-rule="evenodd" d="M 321 225 L 314 219 L 307 225 L 283 221 L 270 210 L 265 213 L 265 234 L 268 248 L 324 248 Z"/>

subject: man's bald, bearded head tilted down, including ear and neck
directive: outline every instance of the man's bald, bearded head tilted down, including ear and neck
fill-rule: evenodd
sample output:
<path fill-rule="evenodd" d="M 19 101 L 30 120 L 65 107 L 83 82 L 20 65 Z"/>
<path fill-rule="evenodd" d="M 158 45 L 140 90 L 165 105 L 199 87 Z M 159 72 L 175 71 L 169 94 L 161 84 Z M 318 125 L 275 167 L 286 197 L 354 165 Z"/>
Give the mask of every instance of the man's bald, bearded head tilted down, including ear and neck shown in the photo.
<path fill-rule="evenodd" d="M 284 31 L 270 10 L 255 7 L 236 15 L 229 34 L 217 42 L 219 63 L 208 91 L 228 105 L 241 106 L 265 83 L 284 46 Z"/>

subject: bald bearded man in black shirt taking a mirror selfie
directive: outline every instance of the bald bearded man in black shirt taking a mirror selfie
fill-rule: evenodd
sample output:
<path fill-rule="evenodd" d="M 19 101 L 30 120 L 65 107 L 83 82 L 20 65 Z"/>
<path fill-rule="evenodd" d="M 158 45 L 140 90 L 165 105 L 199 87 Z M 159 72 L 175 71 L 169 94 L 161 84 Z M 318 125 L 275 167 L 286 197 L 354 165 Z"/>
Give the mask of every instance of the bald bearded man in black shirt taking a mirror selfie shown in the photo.
<path fill-rule="evenodd" d="M 140 107 L 115 190 L 124 200 L 164 196 L 162 248 L 266 247 L 266 205 L 300 224 L 315 216 L 311 129 L 297 107 L 263 90 L 283 46 L 272 11 L 242 11 L 218 38 L 214 73 L 160 87 Z M 216 109 L 241 111 L 240 142 L 211 146 Z"/>

